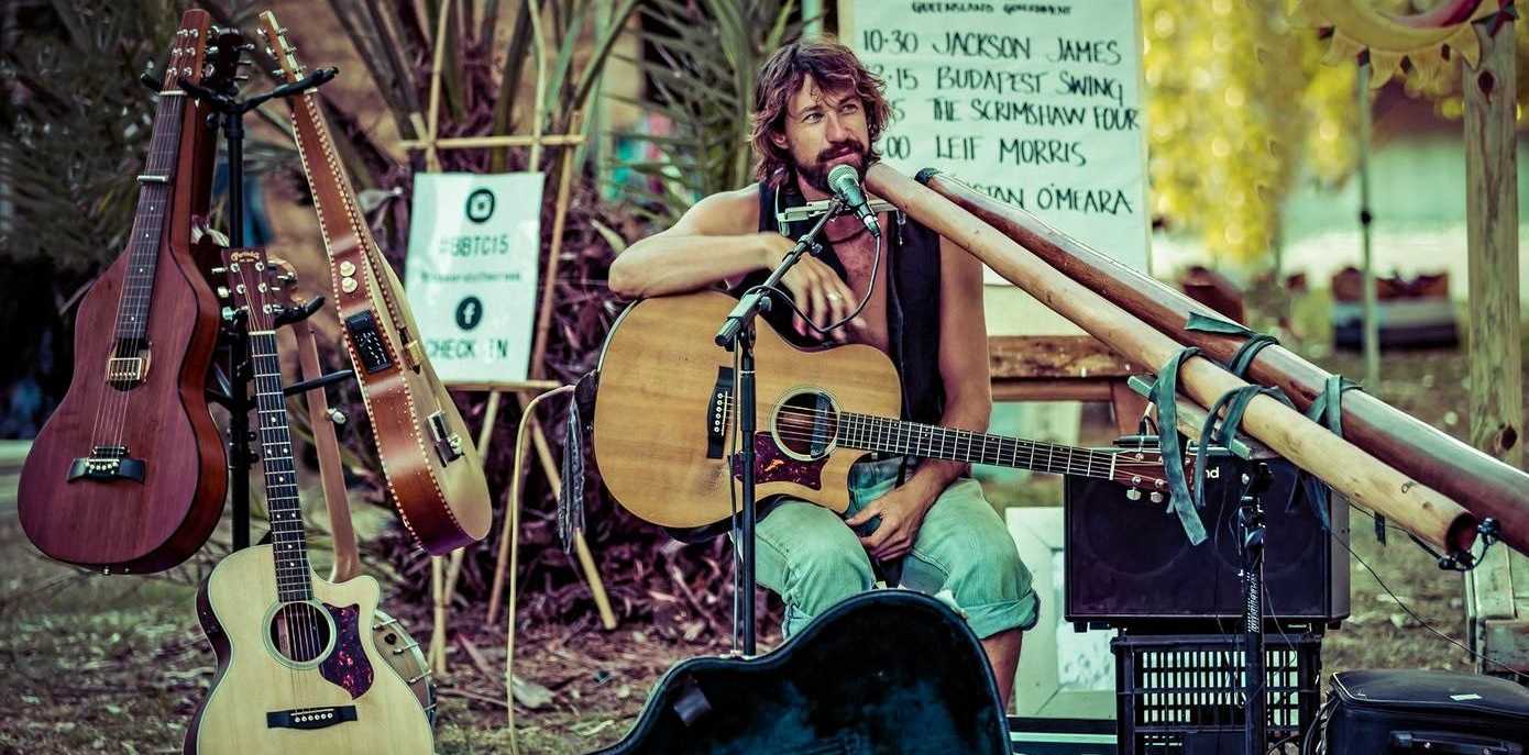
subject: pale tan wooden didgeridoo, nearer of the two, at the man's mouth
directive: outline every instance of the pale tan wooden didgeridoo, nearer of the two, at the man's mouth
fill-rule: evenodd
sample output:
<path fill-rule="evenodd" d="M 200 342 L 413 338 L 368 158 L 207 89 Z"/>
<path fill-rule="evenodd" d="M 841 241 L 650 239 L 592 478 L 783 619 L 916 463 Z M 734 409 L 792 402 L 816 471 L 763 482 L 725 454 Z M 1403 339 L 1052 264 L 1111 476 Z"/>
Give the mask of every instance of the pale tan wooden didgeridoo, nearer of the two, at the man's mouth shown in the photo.
<path fill-rule="evenodd" d="M 1009 237 L 913 179 L 881 164 L 872 165 L 865 179 L 867 188 L 878 196 L 979 257 L 1122 356 L 1138 364 L 1161 365 L 1179 352 L 1179 342 L 1060 274 Z M 1053 229 L 1047 231 L 1061 235 Z M 1183 362 L 1179 382 L 1190 397 L 1206 407 L 1226 391 L 1248 385 L 1199 356 Z M 1249 402 L 1243 428 L 1338 492 L 1365 509 L 1390 517 L 1423 541 L 1460 552 L 1475 538 L 1475 518 L 1457 503 L 1407 478 L 1269 396 Z"/>

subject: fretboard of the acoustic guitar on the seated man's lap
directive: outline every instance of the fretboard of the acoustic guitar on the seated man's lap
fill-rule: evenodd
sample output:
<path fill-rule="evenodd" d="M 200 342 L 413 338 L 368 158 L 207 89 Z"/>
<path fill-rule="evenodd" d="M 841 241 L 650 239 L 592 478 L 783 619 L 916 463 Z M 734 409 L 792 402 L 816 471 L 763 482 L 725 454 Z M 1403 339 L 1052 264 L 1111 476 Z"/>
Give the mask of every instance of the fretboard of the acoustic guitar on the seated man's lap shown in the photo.
<path fill-rule="evenodd" d="M 920 459 L 1008 466 L 1049 474 L 1109 480 L 1115 454 L 1090 448 L 1040 443 L 991 433 L 924 425 L 872 414 L 839 416 L 838 443 L 859 451 L 905 454 Z"/>

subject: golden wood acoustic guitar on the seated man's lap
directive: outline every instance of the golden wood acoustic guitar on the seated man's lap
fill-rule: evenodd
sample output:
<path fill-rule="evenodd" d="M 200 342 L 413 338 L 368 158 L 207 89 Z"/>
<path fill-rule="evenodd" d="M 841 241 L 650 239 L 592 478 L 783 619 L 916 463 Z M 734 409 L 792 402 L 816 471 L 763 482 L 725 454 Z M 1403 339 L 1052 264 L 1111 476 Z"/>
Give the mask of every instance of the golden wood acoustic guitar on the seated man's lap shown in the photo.
<path fill-rule="evenodd" d="M 732 514 L 739 478 L 732 355 L 713 336 L 737 301 L 702 292 L 633 304 L 605 341 L 595 396 L 595 462 L 616 501 L 665 527 Z M 1156 449 L 1073 448 L 898 419 L 902 388 L 881 350 L 806 352 L 763 322 L 757 365 L 755 494 L 849 507 L 850 466 L 870 452 L 1115 480 L 1167 492 Z"/>

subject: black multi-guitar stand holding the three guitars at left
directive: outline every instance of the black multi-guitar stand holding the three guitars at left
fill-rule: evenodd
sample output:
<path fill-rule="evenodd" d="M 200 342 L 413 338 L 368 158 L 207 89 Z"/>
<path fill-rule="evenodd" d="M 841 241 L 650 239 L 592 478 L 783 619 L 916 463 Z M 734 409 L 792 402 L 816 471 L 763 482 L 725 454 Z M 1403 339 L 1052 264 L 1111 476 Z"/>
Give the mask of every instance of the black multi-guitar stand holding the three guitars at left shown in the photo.
<path fill-rule="evenodd" d="M 254 49 L 254 44 L 246 44 Z M 245 61 L 240 61 L 245 64 Z M 271 92 L 239 99 L 239 93 L 229 86 L 228 90 L 211 90 L 193 81 L 180 79 L 180 89 L 188 95 L 202 99 L 213 110 L 208 125 L 222 125 L 223 139 L 228 144 L 228 238 L 234 249 L 245 246 L 245 113 L 260 107 L 269 99 L 287 98 L 320 87 L 335 78 L 336 69 L 318 69 L 307 76 L 281 84 Z M 323 301 L 315 298 L 318 304 Z M 303 307 L 301 318 L 307 318 L 317 310 L 313 303 Z M 287 315 L 294 316 L 294 315 Z M 301 319 L 298 318 L 298 319 Z M 291 322 L 292 319 L 289 319 Z M 209 390 L 208 397 L 228 410 L 228 477 L 229 495 L 232 501 L 234 550 L 249 547 L 249 468 L 255 463 L 251 442 L 255 436 L 249 431 L 249 329 L 245 318 L 237 312 L 223 310 L 223 326 L 219 332 L 220 348 L 228 353 L 226 367 L 217 365 L 217 390 Z M 327 374 L 318 381 L 306 381 L 286 388 L 286 394 L 313 388 L 315 382 L 329 385 L 347 378 L 355 378 L 353 370 Z"/>

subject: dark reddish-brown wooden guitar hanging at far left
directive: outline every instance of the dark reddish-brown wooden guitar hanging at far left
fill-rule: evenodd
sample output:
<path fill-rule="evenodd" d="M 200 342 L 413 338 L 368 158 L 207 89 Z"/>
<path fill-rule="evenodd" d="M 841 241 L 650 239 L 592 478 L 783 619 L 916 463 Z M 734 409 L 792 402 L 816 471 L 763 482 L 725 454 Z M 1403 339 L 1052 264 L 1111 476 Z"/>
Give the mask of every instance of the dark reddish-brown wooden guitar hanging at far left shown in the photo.
<path fill-rule="evenodd" d="M 21 468 L 21 529 L 50 558 L 165 570 L 202 547 L 223 510 L 228 468 L 205 393 L 219 307 L 191 255 L 216 133 L 179 83 L 225 87 L 242 46 L 197 9 L 171 41 L 127 249 L 80 303 L 73 379 Z"/>

